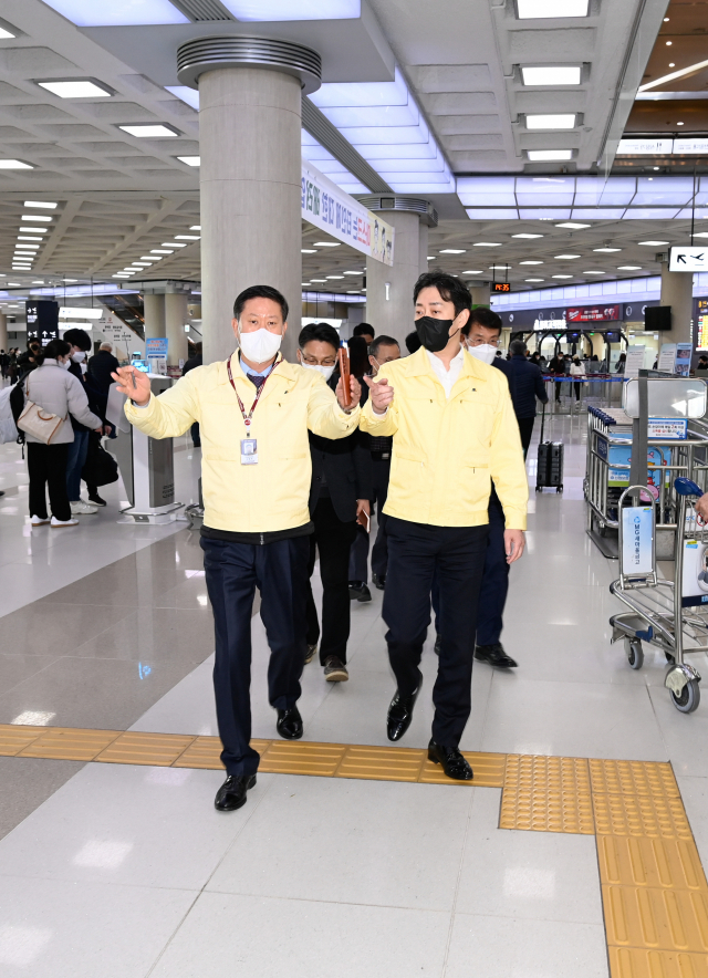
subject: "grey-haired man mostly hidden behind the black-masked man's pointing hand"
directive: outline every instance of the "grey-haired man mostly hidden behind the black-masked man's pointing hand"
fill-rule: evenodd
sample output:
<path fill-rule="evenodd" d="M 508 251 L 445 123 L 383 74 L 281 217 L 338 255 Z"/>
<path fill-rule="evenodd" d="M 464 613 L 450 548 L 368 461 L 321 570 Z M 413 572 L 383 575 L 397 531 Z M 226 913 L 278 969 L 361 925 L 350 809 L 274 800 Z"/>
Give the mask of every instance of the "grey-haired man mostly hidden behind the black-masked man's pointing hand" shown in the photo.
<path fill-rule="evenodd" d="M 385 370 L 386 365 L 400 360 L 400 347 L 396 340 L 392 336 L 377 336 L 369 346 L 368 362 L 371 365 L 368 376 L 377 376 L 381 370 Z M 368 387 L 364 385 L 362 391 L 362 407 L 368 400 Z M 376 511 L 376 541 L 372 548 L 372 581 L 374 585 L 383 591 L 386 586 L 386 566 L 388 564 L 388 548 L 386 544 L 386 513 L 384 506 L 386 503 L 386 495 L 388 492 L 388 478 L 391 476 L 391 452 L 393 449 L 393 438 L 373 438 L 362 431 L 362 438 L 365 439 L 372 455 L 372 503 Z M 372 508 L 372 512 L 373 512 Z M 362 585 L 366 585 L 367 580 L 367 559 L 369 548 L 369 534 L 363 527 L 358 527 L 356 531 L 356 540 L 352 544 L 350 554 L 350 596 L 352 591 L 358 592 Z M 368 591 L 368 589 L 366 589 Z M 355 593 L 358 597 L 358 593 Z"/>

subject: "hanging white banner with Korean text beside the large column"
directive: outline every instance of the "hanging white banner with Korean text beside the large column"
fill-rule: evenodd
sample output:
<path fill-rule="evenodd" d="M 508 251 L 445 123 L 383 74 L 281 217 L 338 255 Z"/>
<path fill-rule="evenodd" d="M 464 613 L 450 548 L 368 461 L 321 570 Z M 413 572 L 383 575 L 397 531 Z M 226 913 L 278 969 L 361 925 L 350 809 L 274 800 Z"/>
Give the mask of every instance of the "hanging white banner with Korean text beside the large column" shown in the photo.
<path fill-rule="evenodd" d="M 376 261 L 394 263 L 393 227 L 304 159 L 300 205 L 303 220 Z"/>

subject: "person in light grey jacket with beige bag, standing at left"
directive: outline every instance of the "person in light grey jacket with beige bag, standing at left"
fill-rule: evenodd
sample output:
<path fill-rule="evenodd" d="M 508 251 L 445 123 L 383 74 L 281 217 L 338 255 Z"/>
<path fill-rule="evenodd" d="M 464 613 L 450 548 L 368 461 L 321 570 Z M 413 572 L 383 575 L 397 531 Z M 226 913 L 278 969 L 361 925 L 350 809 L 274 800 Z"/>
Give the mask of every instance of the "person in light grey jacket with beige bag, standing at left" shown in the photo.
<path fill-rule="evenodd" d="M 50 445 L 44 445 L 32 435 L 25 435 L 30 519 L 33 527 L 50 522 L 46 511 L 48 489 L 52 529 L 77 526 L 79 520 L 72 514 L 66 489 L 66 461 L 75 438 L 72 420 L 76 418 L 87 430 L 103 429 L 101 418 L 88 407 L 83 384 L 69 371 L 71 350 L 71 344 L 65 340 L 52 340 L 43 352 L 34 354 L 34 370 L 22 382 L 29 400 L 45 412 L 64 418 Z"/>

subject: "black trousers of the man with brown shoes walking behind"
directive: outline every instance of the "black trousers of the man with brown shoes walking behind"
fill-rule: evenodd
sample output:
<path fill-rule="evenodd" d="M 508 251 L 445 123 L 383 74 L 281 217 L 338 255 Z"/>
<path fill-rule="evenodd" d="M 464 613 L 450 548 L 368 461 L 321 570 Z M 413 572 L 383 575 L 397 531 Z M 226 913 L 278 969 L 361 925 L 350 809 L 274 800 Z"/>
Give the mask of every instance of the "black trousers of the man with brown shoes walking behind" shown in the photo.
<path fill-rule="evenodd" d="M 320 552 L 322 579 L 322 642 L 320 663 L 335 655 L 346 663 L 350 637 L 350 549 L 356 535 L 356 520 L 343 522 L 334 511 L 329 496 L 321 497 L 312 513 L 314 533 L 310 538 L 308 585 L 314 570 L 315 548 Z M 308 595 L 308 645 L 320 639 L 320 622 L 312 587 Z"/>

